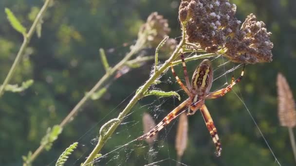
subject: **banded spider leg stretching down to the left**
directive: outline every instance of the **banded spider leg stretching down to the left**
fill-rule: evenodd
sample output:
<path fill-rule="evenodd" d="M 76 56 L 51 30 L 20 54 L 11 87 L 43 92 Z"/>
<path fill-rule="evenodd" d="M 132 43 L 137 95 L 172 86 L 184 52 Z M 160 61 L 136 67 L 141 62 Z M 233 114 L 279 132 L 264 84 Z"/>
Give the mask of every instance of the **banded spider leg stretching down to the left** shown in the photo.
<path fill-rule="evenodd" d="M 178 107 L 176 107 L 173 111 L 171 111 L 160 123 L 158 123 L 153 129 L 151 129 L 148 133 L 137 138 L 137 140 L 144 140 L 151 138 L 153 135 L 161 131 L 167 124 L 169 124 L 173 119 L 179 116 L 185 107 L 188 106 L 188 103 L 191 102 L 191 99 L 183 101 Z"/>

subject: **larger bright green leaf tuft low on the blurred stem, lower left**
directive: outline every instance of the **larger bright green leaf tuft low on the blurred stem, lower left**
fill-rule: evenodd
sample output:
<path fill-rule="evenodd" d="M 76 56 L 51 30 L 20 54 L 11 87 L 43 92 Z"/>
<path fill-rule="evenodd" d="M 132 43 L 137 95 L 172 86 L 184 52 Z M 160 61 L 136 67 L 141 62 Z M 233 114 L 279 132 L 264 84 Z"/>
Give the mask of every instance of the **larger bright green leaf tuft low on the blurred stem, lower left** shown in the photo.
<path fill-rule="evenodd" d="M 55 125 L 52 129 L 48 128 L 46 135 L 41 140 L 41 145 L 45 146 L 46 150 L 50 150 L 60 133 L 62 133 L 62 128 L 59 125 Z"/>

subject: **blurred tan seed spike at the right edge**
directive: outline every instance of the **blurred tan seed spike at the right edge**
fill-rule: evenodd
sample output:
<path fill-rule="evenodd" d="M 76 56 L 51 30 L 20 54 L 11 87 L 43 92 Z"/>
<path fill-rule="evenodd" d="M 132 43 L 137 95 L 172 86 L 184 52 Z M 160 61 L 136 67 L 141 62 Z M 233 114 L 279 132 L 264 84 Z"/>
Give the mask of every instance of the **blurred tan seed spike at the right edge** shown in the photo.
<path fill-rule="evenodd" d="M 281 126 L 296 126 L 296 107 L 292 91 L 286 78 L 277 74 L 277 100 L 278 100 L 278 118 Z"/>

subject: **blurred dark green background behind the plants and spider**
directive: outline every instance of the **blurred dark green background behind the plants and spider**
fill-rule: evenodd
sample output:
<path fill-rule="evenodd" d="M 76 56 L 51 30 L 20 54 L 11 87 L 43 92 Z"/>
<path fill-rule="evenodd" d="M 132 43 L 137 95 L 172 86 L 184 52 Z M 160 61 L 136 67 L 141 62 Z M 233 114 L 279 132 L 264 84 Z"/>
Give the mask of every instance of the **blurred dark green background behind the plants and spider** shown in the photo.
<path fill-rule="evenodd" d="M 280 127 L 277 118 L 276 77 L 282 72 L 296 94 L 296 1 L 295 0 L 230 0 L 237 5 L 237 17 L 244 21 L 250 13 L 267 25 L 274 43 L 273 62 L 246 66 L 245 77 L 235 92 L 243 98 L 260 129 L 268 140 L 282 166 L 295 166 L 288 130 Z M 42 25 L 42 36 L 32 38 L 25 56 L 18 66 L 11 83 L 33 79 L 35 83 L 21 93 L 6 92 L 0 98 L 0 165 L 22 165 L 22 155 L 34 151 L 48 127 L 59 124 L 75 104 L 105 74 L 100 62 L 99 48 L 106 49 L 111 66 L 119 62 L 129 50 L 123 43 L 133 44 L 137 32 L 148 15 L 158 12 L 168 19 L 172 38 L 180 36 L 178 22 L 179 0 L 55 0 Z M 22 42 L 6 19 L 4 8 L 10 8 L 30 27 L 42 0 L 0 0 L 0 82 L 11 67 Z M 108 51 L 113 49 L 114 51 Z M 153 54 L 153 49 L 146 50 Z M 227 59 L 213 61 L 217 67 Z M 191 75 L 200 61 L 189 62 Z M 55 160 L 75 141 L 78 148 L 66 165 L 80 165 L 93 149 L 99 128 L 116 117 L 126 106 L 135 90 L 144 83 L 153 61 L 133 69 L 116 80 L 100 100 L 90 100 L 53 145 L 34 162 L 36 166 L 54 165 Z M 215 71 L 215 77 L 237 64 L 229 63 Z M 176 67 L 183 78 L 182 68 Z M 240 69 L 227 74 L 240 75 Z M 170 91 L 180 87 L 170 72 L 157 87 Z M 221 88 L 222 77 L 213 83 L 212 89 Z M 186 95 L 180 91 L 182 100 Z M 131 96 L 129 96 L 131 95 Z M 116 130 L 102 150 L 108 153 L 143 133 L 142 115 L 149 112 L 159 122 L 180 102 L 171 98 L 147 97 L 132 109 L 132 114 Z M 246 108 L 235 93 L 217 100 L 206 101 L 222 141 L 222 156 L 214 155 L 214 146 L 197 113 L 189 117 L 189 142 L 182 163 L 190 166 L 271 166 L 277 165 L 264 140 L 260 136 Z M 156 165 L 174 166 L 174 149 L 177 123 L 169 125 L 154 145 Z M 148 146 L 134 142 L 115 150 L 96 165 L 141 166 L 147 164 Z"/>

